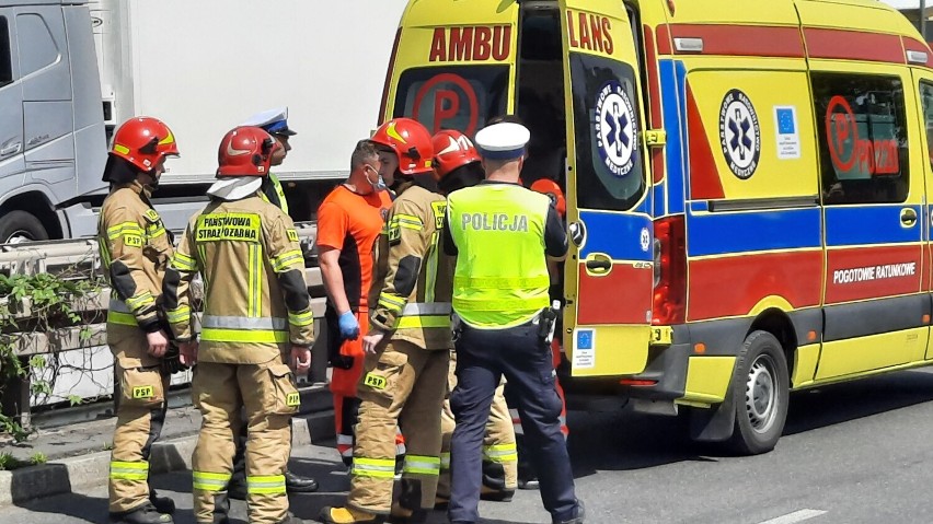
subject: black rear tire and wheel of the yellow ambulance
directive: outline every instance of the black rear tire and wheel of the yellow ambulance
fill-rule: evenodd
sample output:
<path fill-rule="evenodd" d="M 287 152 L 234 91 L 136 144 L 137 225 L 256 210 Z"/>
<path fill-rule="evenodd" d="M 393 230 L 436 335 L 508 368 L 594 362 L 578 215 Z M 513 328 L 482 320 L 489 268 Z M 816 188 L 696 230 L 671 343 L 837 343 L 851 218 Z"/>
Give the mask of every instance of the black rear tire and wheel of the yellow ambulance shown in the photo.
<path fill-rule="evenodd" d="M 781 342 L 768 331 L 746 337 L 729 394 L 736 406 L 730 446 L 742 455 L 768 453 L 784 432 L 791 379 Z"/>

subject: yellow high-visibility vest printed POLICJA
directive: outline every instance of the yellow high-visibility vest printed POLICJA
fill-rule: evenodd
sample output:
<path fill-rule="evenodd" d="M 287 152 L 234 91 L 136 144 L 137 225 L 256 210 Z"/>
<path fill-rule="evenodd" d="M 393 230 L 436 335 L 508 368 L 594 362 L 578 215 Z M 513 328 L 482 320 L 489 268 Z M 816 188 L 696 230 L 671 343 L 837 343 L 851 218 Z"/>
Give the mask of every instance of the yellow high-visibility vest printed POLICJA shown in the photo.
<path fill-rule="evenodd" d="M 481 184 L 447 200 L 457 245 L 453 311 L 479 329 L 531 321 L 549 304 L 544 226 L 551 201 L 515 184 Z"/>

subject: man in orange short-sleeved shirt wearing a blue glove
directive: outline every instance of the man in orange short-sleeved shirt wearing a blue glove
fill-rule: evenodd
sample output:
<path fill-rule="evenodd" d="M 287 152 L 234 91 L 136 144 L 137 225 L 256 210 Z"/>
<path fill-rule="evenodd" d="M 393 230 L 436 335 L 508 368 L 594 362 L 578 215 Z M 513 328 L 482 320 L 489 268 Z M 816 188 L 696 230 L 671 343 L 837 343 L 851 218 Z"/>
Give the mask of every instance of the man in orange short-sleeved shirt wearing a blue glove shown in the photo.
<path fill-rule="evenodd" d="M 356 144 L 349 177 L 318 208 L 318 258 L 327 292 L 327 362 L 332 368 L 334 428 L 337 452 L 353 464 L 354 426 L 359 398 L 356 384 L 362 372 L 362 337 L 369 329 L 367 294 L 372 282 L 372 248 L 392 200 L 382 176 L 379 150 L 369 140 Z M 396 457 L 404 444 L 396 442 Z M 396 461 L 398 463 L 398 461 Z"/>

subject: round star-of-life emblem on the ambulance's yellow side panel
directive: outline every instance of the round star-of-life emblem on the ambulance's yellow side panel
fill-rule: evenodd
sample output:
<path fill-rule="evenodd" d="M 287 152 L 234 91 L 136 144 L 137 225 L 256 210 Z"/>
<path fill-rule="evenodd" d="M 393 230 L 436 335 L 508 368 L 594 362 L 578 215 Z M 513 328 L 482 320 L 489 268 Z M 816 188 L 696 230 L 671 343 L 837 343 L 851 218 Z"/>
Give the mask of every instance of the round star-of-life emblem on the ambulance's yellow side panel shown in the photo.
<path fill-rule="evenodd" d="M 719 107 L 719 144 L 729 170 L 750 178 L 761 156 L 761 125 L 751 100 L 740 90 L 726 93 Z"/>

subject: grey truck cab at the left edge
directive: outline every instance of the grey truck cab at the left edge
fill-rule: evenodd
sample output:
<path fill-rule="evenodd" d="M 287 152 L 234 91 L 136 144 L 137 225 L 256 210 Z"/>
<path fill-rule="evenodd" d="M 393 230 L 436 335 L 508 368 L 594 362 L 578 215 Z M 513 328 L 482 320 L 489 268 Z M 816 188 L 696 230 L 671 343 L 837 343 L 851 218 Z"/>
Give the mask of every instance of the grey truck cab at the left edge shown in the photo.
<path fill-rule="evenodd" d="M 0 0 L 0 243 L 67 236 L 59 205 L 92 189 L 105 152 L 87 5 Z"/>

